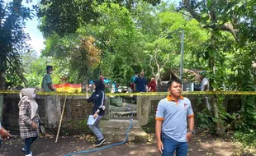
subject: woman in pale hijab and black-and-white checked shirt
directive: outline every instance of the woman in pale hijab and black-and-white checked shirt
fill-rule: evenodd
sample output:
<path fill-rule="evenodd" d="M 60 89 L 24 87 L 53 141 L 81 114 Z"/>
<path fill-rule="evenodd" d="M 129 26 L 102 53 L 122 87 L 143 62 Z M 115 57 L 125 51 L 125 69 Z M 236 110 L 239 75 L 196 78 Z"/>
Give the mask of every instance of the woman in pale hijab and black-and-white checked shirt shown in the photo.
<path fill-rule="evenodd" d="M 38 105 L 35 101 L 36 89 L 21 89 L 21 101 L 19 102 L 19 126 L 21 139 L 25 140 L 22 151 L 26 156 L 31 156 L 31 145 L 39 135 Z"/>

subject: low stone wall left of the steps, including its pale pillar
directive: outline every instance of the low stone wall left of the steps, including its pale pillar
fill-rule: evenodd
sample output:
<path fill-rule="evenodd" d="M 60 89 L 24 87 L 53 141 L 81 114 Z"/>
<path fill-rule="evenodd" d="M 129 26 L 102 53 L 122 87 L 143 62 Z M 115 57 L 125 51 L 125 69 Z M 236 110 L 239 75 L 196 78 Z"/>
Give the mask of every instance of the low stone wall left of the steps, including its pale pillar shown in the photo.
<path fill-rule="evenodd" d="M 36 95 L 39 106 L 39 115 L 47 131 L 56 131 L 59 126 L 61 111 L 64 106 L 65 96 Z M 10 131 L 19 131 L 18 127 L 18 94 L 4 94 L 2 104 L 2 125 Z M 109 100 L 107 100 L 108 103 Z M 1 105 L 1 103 L 0 103 Z M 108 119 L 109 104 L 106 107 Z M 1 108 L 1 107 L 0 107 Z M 64 117 L 61 125 L 61 134 L 89 132 L 88 115 L 92 114 L 92 103 L 87 103 L 85 96 L 67 96 Z"/>

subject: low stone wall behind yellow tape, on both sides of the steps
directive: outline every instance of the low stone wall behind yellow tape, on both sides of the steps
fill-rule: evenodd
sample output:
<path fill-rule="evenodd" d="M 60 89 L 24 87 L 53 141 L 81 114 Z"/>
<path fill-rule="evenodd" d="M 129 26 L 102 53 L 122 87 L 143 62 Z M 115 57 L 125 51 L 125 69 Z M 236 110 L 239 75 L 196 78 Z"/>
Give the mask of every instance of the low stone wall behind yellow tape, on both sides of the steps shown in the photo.
<path fill-rule="evenodd" d="M 2 100 L 1 100 L 2 96 Z M 116 96 L 117 97 L 117 96 Z M 160 99 L 166 96 L 137 96 L 130 97 L 131 100 L 136 99 L 137 103 L 137 119 L 141 126 L 152 123 L 154 126 L 154 116 L 157 104 Z M 197 112 L 201 112 L 206 108 L 206 99 L 201 95 L 186 95 L 192 101 L 192 108 L 197 116 Z M 60 95 L 36 95 L 36 102 L 39 105 L 39 114 L 43 122 L 45 122 L 46 131 L 56 132 L 59 126 L 61 110 L 63 109 L 65 96 Z M 2 108 L 2 125 L 8 130 L 18 131 L 18 94 L 0 94 L 0 111 Z M 127 99 L 126 99 L 127 100 Z M 2 101 L 2 103 L 1 103 Z M 106 115 L 105 120 L 109 119 L 110 97 L 106 99 Z M 1 105 L 3 107 L 1 107 Z M 232 95 L 225 100 L 225 108 L 227 112 L 236 112 L 241 106 L 241 99 L 238 95 Z M 88 128 L 88 115 L 92 113 L 92 103 L 87 103 L 85 96 L 67 96 L 66 106 L 64 109 L 64 117 L 61 126 L 61 134 L 77 134 L 91 132 Z M 1 113 L 0 113 L 1 115 Z M 1 120 L 1 119 L 0 119 Z"/>

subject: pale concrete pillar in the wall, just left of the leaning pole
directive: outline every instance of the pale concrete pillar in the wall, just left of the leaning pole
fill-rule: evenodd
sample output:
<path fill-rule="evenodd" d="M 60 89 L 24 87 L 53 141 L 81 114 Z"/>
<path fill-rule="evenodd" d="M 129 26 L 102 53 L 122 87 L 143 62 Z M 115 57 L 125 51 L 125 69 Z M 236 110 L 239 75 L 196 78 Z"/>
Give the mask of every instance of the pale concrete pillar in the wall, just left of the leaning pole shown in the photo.
<path fill-rule="evenodd" d="M 56 128 L 59 124 L 61 116 L 59 95 L 45 96 L 45 118 L 46 126 L 49 128 Z"/>

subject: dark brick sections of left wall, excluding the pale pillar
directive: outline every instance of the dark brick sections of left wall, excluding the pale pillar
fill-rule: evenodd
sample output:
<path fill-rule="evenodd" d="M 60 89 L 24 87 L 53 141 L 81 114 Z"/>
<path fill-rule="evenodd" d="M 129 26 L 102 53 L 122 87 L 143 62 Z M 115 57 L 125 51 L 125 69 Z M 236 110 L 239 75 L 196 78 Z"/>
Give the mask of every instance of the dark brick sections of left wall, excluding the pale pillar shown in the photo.
<path fill-rule="evenodd" d="M 59 96 L 61 110 L 64 105 L 64 96 Z M 18 94 L 5 94 L 3 99 L 2 125 L 10 131 L 18 131 Z M 39 115 L 43 122 L 46 121 L 45 96 L 36 95 L 39 106 Z M 84 96 L 67 96 L 64 117 L 60 129 L 61 134 L 88 132 L 88 115 L 92 114 L 92 103 L 87 103 Z M 46 131 L 55 133 L 56 128 L 46 127 Z"/>

